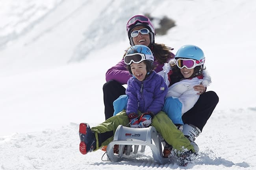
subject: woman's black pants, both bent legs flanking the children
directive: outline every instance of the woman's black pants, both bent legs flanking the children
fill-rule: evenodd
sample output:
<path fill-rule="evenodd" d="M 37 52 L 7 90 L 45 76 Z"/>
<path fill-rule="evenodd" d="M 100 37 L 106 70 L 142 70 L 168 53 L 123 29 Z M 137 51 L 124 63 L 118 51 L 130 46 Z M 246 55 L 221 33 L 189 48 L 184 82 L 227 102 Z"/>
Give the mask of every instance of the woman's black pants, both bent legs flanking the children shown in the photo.
<path fill-rule="evenodd" d="M 125 94 L 125 88 L 115 80 L 109 80 L 103 86 L 104 105 L 105 105 L 105 119 L 113 116 L 114 108 L 113 101 L 120 95 Z M 219 102 L 219 97 L 214 91 L 207 91 L 200 95 L 195 106 L 184 113 L 182 120 L 185 124 L 193 124 L 201 131 L 204 128 L 211 113 Z"/>

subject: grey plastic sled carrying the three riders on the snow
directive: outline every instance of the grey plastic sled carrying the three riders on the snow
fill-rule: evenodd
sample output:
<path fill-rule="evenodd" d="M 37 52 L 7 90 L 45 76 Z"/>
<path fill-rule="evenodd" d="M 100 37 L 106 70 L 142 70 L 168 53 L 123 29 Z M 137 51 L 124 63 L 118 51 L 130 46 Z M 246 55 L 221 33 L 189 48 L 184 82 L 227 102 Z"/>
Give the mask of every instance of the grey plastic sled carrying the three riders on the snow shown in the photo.
<path fill-rule="evenodd" d="M 124 146 L 126 147 L 126 155 L 130 155 L 132 145 L 134 145 L 134 154 L 137 154 L 139 145 L 141 145 L 141 152 L 145 151 L 145 147 L 149 146 L 152 150 L 154 160 L 160 164 L 169 162 L 169 158 L 163 157 L 162 152 L 163 138 L 158 134 L 156 128 L 150 126 L 148 128 L 130 128 L 119 125 L 114 135 L 114 140 L 108 144 L 107 156 L 110 161 L 118 162 L 124 158 Z M 119 145 L 119 154 L 114 154 L 113 146 Z M 164 143 L 163 143 L 164 146 Z"/>

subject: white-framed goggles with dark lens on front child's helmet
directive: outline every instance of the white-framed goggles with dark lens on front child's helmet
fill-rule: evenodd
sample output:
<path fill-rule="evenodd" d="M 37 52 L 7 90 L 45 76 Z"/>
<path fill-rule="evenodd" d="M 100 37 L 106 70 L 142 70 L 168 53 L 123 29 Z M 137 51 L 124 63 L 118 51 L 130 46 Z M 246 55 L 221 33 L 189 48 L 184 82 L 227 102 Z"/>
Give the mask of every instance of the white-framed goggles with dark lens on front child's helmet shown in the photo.
<path fill-rule="evenodd" d="M 130 64 L 132 64 L 132 62 L 138 64 L 144 60 L 154 61 L 154 57 L 153 57 L 153 55 L 141 54 L 141 53 L 128 54 L 128 55 L 124 56 L 124 63 L 126 65 L 130 65 Z"/>

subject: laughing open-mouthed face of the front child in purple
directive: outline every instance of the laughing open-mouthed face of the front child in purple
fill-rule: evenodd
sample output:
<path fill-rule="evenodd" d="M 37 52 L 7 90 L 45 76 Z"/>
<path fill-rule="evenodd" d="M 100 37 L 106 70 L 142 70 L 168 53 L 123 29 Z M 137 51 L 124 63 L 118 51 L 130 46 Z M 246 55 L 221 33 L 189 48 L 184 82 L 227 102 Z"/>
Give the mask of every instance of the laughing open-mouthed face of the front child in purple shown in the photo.
<path fill-rule="evenodd" d="M 144 62 L 140 62 L 139 64 L 132 62 L 131 70 L 132 74 L 139 81 L 143 81 L 147 75 L 147 66 Z"/>

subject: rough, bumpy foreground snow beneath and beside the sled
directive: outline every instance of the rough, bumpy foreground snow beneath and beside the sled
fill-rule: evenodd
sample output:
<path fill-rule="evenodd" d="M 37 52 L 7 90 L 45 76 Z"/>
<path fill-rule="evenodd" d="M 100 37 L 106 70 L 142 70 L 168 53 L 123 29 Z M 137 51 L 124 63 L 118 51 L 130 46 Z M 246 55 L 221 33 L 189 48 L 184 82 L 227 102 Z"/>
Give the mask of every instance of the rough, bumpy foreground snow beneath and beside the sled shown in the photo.
<path fill-rule="evenodd" d="M 119 163 L 101 161 L 104 154 L 98 150 L 87 155 L 78 151 L 78 124 L 70 123 L 58 129 L 41 132 L 16 133 L 0 138 L 2 170 L 32 169 L 197 169 L 197 170 L 254 170 L 256 158 L 255 110 L 214 112 L 201 136 L 198 159 L 187 167 L 169 163 L 159 165 L 146 148 L 145 154 L 136 159 L 125 159 Z M 243 117 L 241 117 L 243 114 Z M 234 124 L 236 122 L 236 124 Z M 92 126 L 96 124 L 91 124 Z M 212 129 L 211 127 L 214 127 Z M 106 156 L 103 157 L 106 159 Z"/>

